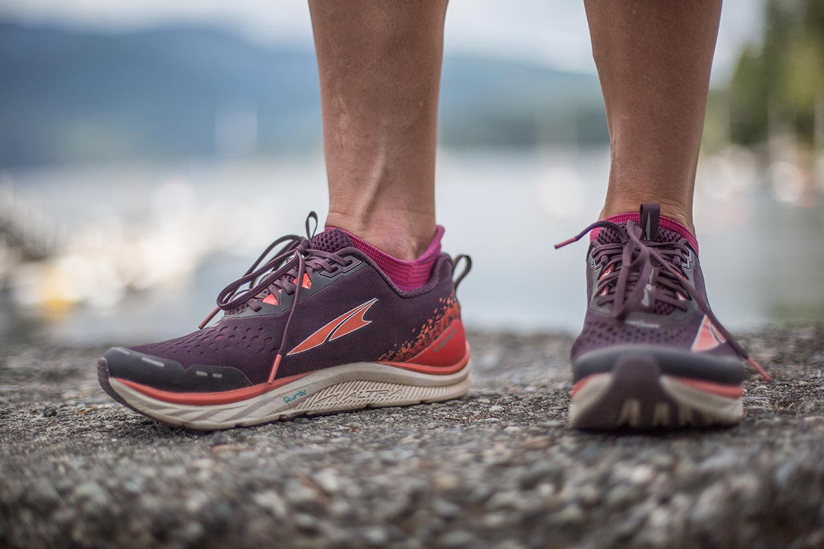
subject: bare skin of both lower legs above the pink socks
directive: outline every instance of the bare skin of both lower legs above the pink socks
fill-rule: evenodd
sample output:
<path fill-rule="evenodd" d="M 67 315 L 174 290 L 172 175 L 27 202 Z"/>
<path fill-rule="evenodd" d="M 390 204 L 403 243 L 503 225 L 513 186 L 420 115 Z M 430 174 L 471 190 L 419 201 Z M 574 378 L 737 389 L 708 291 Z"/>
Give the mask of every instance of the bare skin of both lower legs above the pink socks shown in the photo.
<path fill-rule="evenodd" d="M 692 198 L 721 0 L 585 0 L 610 132 L 601 218 L 658 202 L 695 232 Z M 310 0 L 330 212 L 396 258 L 435 233 L 446 0 Z"/>

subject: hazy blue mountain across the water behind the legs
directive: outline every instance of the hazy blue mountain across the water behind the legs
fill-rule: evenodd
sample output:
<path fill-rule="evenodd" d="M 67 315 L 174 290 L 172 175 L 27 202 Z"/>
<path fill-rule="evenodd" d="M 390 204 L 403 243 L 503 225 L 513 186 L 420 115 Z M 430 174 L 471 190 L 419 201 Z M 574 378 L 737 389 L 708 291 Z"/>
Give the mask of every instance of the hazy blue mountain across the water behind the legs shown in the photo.
<path fill-rule="evenodd" d="M 319 147 L 317 86 L 312 51 L 220 30 L 0 23 L 0 166 Z M 597 78 L 447 57 L 441 135 L 447 147 L 606 142 Z"/>

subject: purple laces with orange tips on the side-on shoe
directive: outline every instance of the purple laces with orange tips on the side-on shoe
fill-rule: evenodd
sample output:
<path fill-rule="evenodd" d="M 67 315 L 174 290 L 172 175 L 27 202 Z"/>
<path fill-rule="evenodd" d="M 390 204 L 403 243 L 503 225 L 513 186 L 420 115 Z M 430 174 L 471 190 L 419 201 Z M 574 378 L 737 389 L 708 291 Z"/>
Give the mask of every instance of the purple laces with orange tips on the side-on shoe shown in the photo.
<path fill-rule="evenodd" d="M 312 220 L 315 221 L 315 227 L 310 230 Z M 278 355 L 275 356 L 272 369 L 269 371 L 269 384 L 273 383 L 274 377 L 278 373 L 280 361 L 283 360 L 283 350 L 286 348 L 288 341 L 289 327 L 292 325 L 297 303 L 300 301 L 301 288 L 305 277 L 309 277 L 311 281 L 313 272 L 335 272 L 338 268 L 348 267 L 351 264 L 351 260 L 344 259 L 338 254 L 311 247 L 311 239 L 315 235 L 317 226 L 317 214 L 309 212 L 306 221 L 307 235 L 305 237 L 286 235 L 269 244 L 255 263 L 252 263 L 246 274 L 218 293 L 218 306 L 199 325 L 199 328 L 203 329 L 221 310 L 231 311 L 242 305 L 258 311 L 261 309 L 260 301 L 269 294 L 282 295 L 283 292 L 288 295 L 294 294 L 292 307 L 289 309 L 286 325 L 283 328 Z M 272 250 L 281 244 L 283 244 L 282 247 L 274 253 L 274 256 L 264 263 Z"/>

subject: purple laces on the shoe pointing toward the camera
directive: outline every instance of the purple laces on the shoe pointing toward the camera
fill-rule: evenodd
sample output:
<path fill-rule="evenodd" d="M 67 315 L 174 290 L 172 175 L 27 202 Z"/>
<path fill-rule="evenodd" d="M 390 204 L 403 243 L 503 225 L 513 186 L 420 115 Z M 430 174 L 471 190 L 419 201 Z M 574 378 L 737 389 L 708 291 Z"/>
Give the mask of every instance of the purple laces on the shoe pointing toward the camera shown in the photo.
<path fill-rule="evenodd" d="M 597 228 L 612 230 L 620 240 L 614 244 L 600 244 L 596 249 L 597 262 L 603 265 L 602 275 L 595 288 L 597 305 L 611 303 L 612 316 L 624 320 L 633 310 L 651 309 L 655 301 L 686 310 L 686 300 L 695 300 L 738 356 L 747 361 L 762 378 L 770 380 L 770 375 L 723 327 L 709 308 L 709 303 L 681 271 L 681 265 L 691 258 L 691 249 L 687 247 L 686 240 L 651 242 L 642 239 L 644 231 L 635 221 L 627 221 L 626 226 L 612 221 L 596 221 L 573 238 L 555 244 L 555 249 L 578 242 L 589 231 Z"/>

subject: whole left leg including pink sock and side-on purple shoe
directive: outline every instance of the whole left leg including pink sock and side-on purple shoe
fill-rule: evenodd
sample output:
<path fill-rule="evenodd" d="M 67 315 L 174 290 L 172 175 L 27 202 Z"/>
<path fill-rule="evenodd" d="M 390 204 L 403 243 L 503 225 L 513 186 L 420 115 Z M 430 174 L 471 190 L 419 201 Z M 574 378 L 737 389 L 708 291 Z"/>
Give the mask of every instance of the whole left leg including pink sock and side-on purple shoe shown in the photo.
<path fill-rule="evenodd" d="M 106 351 L 97 363 L 106 393 L 146 416 L 208 430 L 466 393 L 457 259 L 440 254 L 435 225 L 446 3 L 311 0 L 325 230 L 310 234 L 310 212 L 305 238 L 270 244 L 218 293 L 199 332 Z"/>

